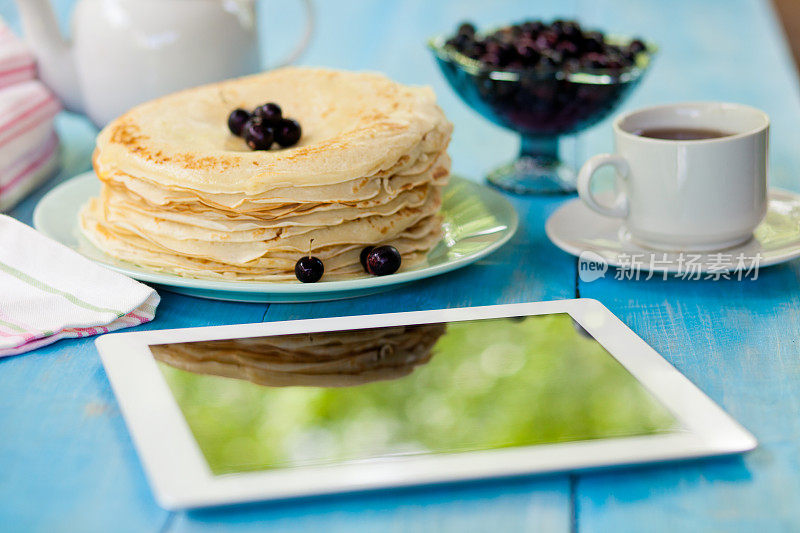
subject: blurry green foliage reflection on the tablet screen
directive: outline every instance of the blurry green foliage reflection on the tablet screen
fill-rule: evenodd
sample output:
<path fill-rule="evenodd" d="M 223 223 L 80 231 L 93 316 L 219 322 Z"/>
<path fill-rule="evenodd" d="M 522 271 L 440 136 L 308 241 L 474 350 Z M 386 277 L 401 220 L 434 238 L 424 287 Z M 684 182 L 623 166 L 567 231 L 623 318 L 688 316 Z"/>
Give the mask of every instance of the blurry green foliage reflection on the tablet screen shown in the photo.
<path fill-rule="evenodd" d="M 235 379 L 159 367 L 215 474 L 677 426 L 567 314 L 437 327 L 430 359 L 417 354 L 408 375 L 384 372 L 383 381 L 356 386 L 272 387 L 247 381 L 247 373 Z"/>

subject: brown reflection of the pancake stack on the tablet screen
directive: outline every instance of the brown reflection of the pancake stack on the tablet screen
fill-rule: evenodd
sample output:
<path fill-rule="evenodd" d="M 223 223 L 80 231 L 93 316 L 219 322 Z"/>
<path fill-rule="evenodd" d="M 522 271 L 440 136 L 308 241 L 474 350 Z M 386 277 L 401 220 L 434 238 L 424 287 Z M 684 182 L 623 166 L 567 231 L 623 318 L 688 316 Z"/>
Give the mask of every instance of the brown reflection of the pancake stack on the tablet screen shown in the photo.
<path fill-rule="evenodd" d="M 184 342 L 153 346 L 153 356 L 197 374 L 271 387 L 351 387 L 397 379 L 431 358 L 444 324 Z"/>

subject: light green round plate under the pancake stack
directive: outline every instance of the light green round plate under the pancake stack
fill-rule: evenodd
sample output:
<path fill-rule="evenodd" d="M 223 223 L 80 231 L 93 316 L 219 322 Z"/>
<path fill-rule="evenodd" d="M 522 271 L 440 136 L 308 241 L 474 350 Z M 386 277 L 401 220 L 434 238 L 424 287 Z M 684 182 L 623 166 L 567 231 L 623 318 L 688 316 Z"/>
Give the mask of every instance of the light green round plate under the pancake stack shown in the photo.
<path fill-rule="evenodd" d="M 517 230 L 514 207 L 498 192 L 453 176 L 444 191 L 444 236 L 427 260 L 412 270 L 390 276 L 318 283 L 264 281 L 216 281 L 154 272 L 118 261 L 92 246 L 78 229 L 78 211 L 100 191 L 94 172 L 62 183 L 36 206 L 33 224 L 48 237 L 89 259 L 134 279 L 155 283 L 181 294 L 237 302 L 319 302 L 352 298 L 397 288 L 398 285 L 444 274 L 484 257 L 505 244 Z"/>

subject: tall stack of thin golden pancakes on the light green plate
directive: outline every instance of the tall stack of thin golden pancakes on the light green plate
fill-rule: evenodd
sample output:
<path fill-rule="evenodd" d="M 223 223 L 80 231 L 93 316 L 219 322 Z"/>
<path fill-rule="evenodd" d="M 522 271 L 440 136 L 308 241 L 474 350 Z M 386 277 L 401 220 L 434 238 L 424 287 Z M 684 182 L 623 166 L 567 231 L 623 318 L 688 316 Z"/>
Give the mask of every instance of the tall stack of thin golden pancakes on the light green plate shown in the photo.
<path fill-rule="evenodd" d="M 300 123 L 297 145 L 230 133 L 233 109 L 265 102 Z M 182 91 L 100 133 L 81 228 L 115 258 L 197 278 L 294 280 L 305 255 L 323 281 L 354 277 L 383 244 L 408 268 L 441 237 L 451 132 L 429 88 L 379 74 L 283 68 Z"/>

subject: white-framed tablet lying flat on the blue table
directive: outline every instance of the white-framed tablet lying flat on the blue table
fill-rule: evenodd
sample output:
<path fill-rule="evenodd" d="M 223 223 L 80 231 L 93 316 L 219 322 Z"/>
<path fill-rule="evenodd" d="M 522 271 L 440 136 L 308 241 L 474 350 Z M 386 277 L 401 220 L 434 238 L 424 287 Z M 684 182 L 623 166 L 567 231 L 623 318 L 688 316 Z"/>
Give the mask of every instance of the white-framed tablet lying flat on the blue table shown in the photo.
<path fill-rule="evenodd" d="M 594 300 L 106 335 L 167 509 L 744 452 Z"/>

